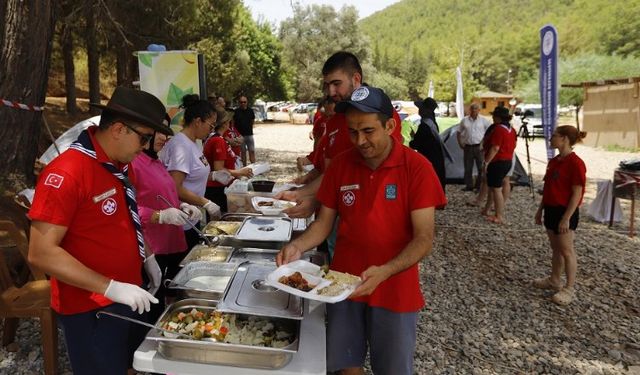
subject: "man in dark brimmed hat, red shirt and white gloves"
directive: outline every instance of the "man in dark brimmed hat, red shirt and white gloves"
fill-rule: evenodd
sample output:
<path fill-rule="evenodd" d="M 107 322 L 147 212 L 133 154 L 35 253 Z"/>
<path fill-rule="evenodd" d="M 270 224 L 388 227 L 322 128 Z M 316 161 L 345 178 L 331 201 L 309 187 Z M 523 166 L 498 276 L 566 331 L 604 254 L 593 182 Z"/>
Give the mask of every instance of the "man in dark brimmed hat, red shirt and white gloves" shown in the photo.
<path fill-rule="evenodd" d="M 141 337 L 129 322 L 97 319 L 100 310 L 137 316 L 158 300 L 141 288 L 147 257 L 129 169 L 154 133 L 172 134 L 165 108 L 144 91 L 118 87 L 99 126 L 83 131 L 42 172 L 29 217 L 29 262 L 51 276 L 51 308 L 64 329 L 74 374 L 122 374 Z"/>

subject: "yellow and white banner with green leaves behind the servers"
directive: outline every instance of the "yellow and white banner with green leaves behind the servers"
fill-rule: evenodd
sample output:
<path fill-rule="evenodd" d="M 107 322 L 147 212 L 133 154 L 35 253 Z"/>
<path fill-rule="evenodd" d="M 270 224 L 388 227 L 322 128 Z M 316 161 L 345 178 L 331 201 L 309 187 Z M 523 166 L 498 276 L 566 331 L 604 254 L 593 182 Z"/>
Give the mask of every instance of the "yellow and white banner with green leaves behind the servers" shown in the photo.
<path fill-rule="evenodd" d="M 138 51 L 140 89 L 158 97 L 167 107 L 171 126 L 180 127 L 182 97 L 200 95 L 198 53 L 195 51 Z"/>

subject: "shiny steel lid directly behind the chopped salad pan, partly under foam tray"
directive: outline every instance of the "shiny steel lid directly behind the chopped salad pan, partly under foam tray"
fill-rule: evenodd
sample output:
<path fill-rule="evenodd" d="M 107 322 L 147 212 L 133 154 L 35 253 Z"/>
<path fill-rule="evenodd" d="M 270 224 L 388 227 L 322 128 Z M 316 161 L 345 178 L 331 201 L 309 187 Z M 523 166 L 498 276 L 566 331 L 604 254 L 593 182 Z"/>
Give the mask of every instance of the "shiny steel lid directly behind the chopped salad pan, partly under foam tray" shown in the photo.
<path fill-rule="evenodd" d="M 238 266 L 218 304 L 223 312 L 243 313 L 286 319 L 302 319 L 300 297 L 264 283 L 275 264 L 245 262 Z"/>

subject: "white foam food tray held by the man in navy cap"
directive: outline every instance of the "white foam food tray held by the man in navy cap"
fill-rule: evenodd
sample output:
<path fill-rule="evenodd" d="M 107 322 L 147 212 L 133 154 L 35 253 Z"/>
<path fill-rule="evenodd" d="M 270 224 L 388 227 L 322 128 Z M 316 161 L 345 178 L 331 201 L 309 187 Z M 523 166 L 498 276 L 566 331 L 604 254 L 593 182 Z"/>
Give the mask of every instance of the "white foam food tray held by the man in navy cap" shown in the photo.
<path fill-rule="evenodd" d="M 290 287 L 278 281 L 280 277 L 289 276 L 296 271 L 302 274 L 302 277 L 304 277 L 304 279 L 309 282 L 309 285 L 315 285 L 315 287 L 308 292 L 303 292 L 300 289 Z M 320 266 L 311 262 L 307 262 L 306 260 L 296 260 L 295 262 L 291 262 L 278 267 L 275 271 L 267 275 L 265 283 L 284 292 L 302 298 L 325 303 L 336 303 L 344 301 L 358 287 L 358 284 L 349 285 L 342 293 L 337 296 L 324 296 L 318 294 L 318 290 L 331 285 L 331 281 L 322 278 L 322 270 Z"/>

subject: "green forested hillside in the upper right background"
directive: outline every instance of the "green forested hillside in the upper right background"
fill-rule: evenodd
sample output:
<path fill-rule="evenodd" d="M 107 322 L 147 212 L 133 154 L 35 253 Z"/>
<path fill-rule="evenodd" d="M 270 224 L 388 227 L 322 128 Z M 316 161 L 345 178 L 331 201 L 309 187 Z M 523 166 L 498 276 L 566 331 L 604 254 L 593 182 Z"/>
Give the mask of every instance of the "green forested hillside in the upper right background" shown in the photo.
<path fill-rule="evenodd" d="M 562 82 L 640 75 L 640 0 L 403 0 L 360 26 L 378 72 L 404 81 L 411 97 L 433 80 L 435 96 L 451 100 L 458 65 L 466 97 L 479 89 L 535 95 L 526 87 L 537 79 L 547 23 L 558 29 Z"/>

